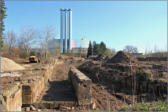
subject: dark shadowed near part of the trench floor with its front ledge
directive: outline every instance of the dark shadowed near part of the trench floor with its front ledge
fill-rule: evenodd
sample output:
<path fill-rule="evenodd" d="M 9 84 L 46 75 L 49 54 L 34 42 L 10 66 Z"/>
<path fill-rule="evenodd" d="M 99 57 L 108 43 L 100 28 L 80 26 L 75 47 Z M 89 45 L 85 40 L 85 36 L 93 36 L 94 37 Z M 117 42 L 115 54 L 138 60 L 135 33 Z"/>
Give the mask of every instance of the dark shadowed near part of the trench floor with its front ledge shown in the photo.
<path fill-rule="evenodd" d="M 68 80 L 51 81 L 34 104 L 38 109 L 60 109 L 61 106 L 74 107 L 77 104 L 72 84 Z"/>

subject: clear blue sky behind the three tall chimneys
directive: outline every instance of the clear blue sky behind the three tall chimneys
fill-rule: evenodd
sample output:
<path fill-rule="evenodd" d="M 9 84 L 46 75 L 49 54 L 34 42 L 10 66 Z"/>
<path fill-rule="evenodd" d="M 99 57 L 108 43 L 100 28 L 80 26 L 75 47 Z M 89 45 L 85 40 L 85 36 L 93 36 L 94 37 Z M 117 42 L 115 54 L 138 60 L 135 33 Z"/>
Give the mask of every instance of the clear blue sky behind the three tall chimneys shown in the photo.
<path fill-rule="evenodd" d="M 103 41 L 116 50 L 167 49 L 166 1 L 6 1 L 6 7 L 5 32 L 52 25 L 60 38 L 60 8 L 71 8 L 75 40 Z"/>

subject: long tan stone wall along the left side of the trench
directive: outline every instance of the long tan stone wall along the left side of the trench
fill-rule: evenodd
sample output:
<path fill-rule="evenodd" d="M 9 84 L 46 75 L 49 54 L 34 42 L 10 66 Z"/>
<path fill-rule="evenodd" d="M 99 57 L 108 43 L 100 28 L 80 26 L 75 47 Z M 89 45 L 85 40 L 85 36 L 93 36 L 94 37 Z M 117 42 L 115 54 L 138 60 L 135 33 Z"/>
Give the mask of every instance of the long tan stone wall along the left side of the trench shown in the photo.
<path fill-rule="evenodd" d="M 3 84 L 0 94 L 1 110 L 21 111 L 22 104 L 33 104 L 51 79 L 52 70 L 53 65 L 46 67 L 39 74 Z"/>

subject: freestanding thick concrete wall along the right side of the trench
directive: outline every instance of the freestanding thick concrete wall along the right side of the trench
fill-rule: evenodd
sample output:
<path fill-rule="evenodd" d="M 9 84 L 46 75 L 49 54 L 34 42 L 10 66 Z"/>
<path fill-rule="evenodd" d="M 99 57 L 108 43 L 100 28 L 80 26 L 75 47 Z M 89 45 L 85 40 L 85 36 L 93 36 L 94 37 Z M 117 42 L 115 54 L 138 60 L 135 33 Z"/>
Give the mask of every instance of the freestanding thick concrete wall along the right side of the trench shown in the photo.
<path fill-rule="evenodd" d="M 76 68 L 69 71 L 69 80 L 72 82 L 79 105 L 91 104 L 92 81 Z"/>

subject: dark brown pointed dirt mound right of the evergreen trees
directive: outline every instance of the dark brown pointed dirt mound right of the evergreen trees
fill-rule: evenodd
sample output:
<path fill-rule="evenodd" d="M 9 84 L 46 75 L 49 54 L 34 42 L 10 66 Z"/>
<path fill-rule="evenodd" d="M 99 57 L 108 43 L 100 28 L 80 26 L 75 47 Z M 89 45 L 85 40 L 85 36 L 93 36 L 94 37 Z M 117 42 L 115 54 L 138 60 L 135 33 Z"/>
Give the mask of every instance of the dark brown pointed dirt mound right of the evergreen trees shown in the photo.
<path fill-rule="evenodd" d="M 129 63 L 136 62 L 137 60 L 133 58 L 129 53 L 119 51 L 114 57 L 109 59 L 107 63 Z"/>

